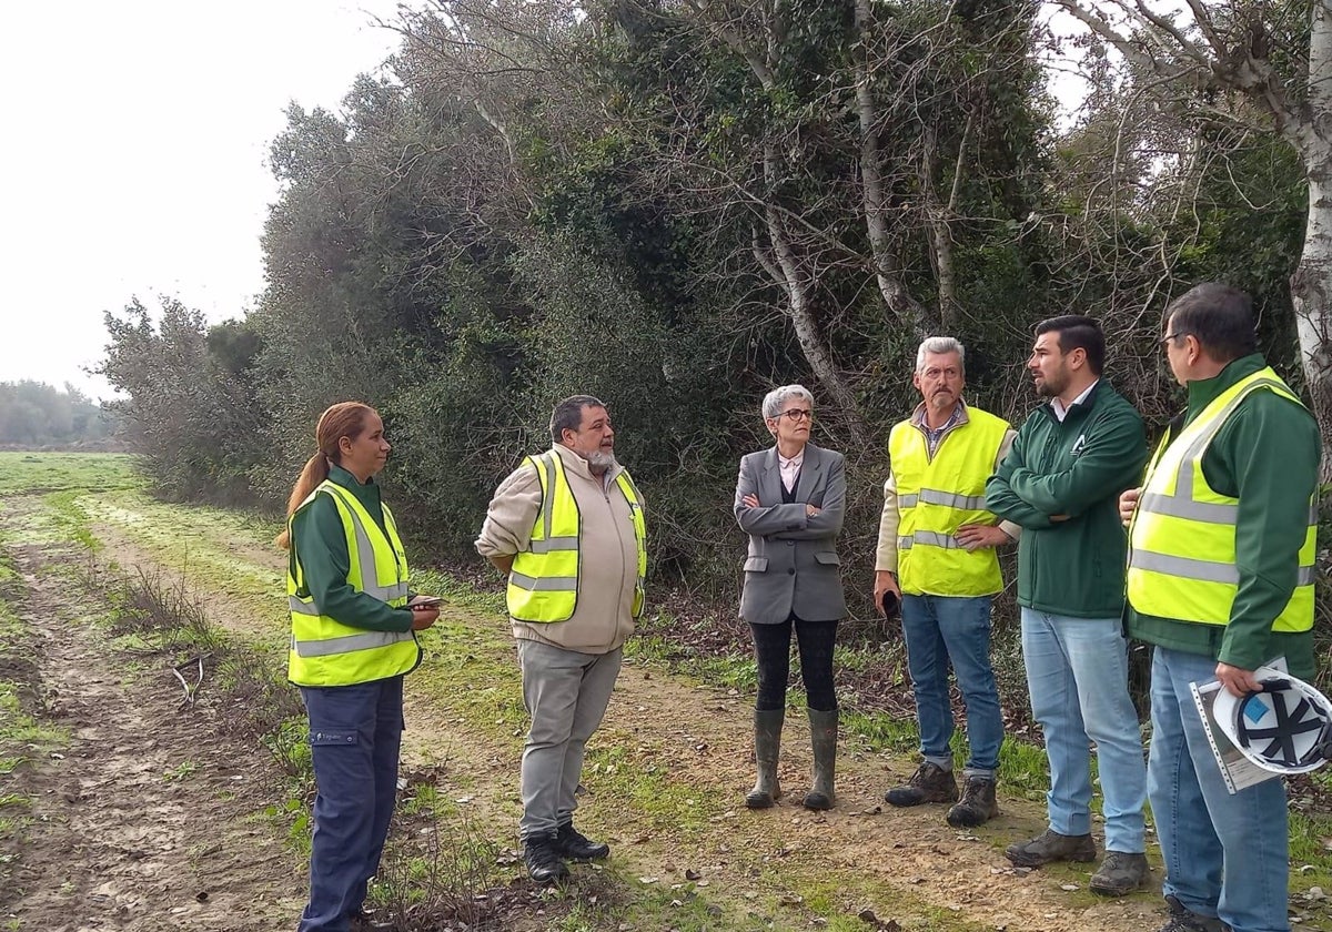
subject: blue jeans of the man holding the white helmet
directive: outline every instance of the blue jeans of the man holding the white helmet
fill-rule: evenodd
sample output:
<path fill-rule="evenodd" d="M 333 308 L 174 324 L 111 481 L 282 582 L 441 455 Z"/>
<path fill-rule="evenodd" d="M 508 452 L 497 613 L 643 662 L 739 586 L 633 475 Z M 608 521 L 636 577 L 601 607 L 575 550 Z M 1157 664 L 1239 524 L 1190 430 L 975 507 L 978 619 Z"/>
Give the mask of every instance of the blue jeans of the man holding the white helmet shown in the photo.
<path fill-rule="evenodd" d="M 1288 932 L 1285 786 L 1231 795 L 1207 743 L 1189 683 L 1216 679 L 1216 660 L 1156 648 L 1148 792 L 1166 859 L 1164 892 L 1235 932 Z"/>

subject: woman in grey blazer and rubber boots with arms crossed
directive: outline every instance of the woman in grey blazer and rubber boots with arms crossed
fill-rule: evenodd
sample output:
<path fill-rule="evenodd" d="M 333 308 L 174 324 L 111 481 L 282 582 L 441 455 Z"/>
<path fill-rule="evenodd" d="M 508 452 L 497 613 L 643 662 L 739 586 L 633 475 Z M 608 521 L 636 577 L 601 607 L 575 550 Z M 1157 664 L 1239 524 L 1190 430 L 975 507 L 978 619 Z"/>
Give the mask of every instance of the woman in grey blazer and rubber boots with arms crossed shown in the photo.
<path fill-rule="evenodd" d="M 745 798 L 751 810 L 782 795 L 777 762 L 791 672 L 791 631 L 801 651 L 814 744 L 814 786 L 805 807 L 830 810 L 836 802 L 838 711 L 832 691 L 832 644 L 846 615 L 836 539 L 846 514 L 846 469 L 840 453 L 809 442 L 814 395 L 783 385 L 763 398 L 763 422 L 777 443 L 741 459 L 735 521 L 749 534 L 741 618 L 754 635 L 758 699 L 754 703 L 754 758 L 758 780 Z"/>

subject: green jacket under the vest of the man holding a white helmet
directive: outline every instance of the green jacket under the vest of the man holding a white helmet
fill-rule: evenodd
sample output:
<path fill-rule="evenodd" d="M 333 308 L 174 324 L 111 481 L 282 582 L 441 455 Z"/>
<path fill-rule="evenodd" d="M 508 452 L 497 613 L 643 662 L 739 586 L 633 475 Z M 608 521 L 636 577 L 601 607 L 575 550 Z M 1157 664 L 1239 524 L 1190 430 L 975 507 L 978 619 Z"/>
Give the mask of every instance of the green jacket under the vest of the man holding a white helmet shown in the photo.
<path fill-rule="evenodd" d="M 1259 354 L 1232 361 L 1215 378 L 1188 383 L 1188 407 L 1169 437 L 1216 395 L 1267 363 Z M 1203 454 L 1203 477 L 1239 499 L 1235 565 L 1240 582 L 1225 626 L 1156 618 L 1126 608 L 1128 634 L 1171 650 L 1203 654 L 1241 670 L 1285 655 L 1292 675 L 1315 675 L 1313 632 L 1275 632 L 1272 620 L 1295 591 L 1299 553 L 1317 487 L 1321 443 L 1313 415 L 1275 391 L 1253 391 Z"/>

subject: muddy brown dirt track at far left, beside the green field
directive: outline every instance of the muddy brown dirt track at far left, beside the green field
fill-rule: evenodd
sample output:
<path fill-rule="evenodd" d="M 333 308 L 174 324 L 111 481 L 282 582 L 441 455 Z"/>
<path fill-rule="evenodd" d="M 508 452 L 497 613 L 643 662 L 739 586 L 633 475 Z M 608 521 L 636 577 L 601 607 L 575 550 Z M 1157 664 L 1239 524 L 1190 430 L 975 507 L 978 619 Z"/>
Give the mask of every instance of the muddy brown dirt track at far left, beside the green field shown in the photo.
<path fill-rule="evenodd" d="M 11 529 L 23 519 L 23 506 L 5 513 Z M 11 553 L 27 588 L 19 614 L 37 640 L 44 716 L 69 743 L 9 778 L 9 790 L 35 802 L 13 883 L 0 892 L 0 917 L 16 923 L 4 928 L 286 927 L 304 901 L 301 879 L 272 825 L 252 817 L 272 792 L 264 752 L 221 739 L 206 699 L 182 708 L 161 664 L 127 670 L 101 630 L 67 620 L 71 603 L 96 611 L 95 594 L 71 599 L 69 574 L 52 573 L 67 554 Z"/>

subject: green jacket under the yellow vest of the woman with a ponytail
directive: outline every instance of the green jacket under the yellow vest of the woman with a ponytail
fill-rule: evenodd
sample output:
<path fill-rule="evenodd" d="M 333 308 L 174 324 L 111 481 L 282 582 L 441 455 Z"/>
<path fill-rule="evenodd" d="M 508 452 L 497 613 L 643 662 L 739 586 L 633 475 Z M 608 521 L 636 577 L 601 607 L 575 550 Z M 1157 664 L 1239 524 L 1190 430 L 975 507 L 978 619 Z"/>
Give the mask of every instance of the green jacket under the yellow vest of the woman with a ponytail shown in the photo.
<path fill-rule="evenodd" d="M 380 499 L 380 486 L 373 478 L 361 485 L 341 466 L 333 466 L 329 478 L 356 495 L 380 530 L 384 530 L 384 503 Z M 305 584 L 314 604 L 329 618 L 370 631 L 412 630 L 409 608 L 393 608 L 373 595 L 357 592 L 348 583 L 352 558 L 346 553 L 342 518 L 328 495 L 316 495 L 314 501 L 292 515 L 292 551 L 288 559 L 292 573 L 296 571 L 296 562 L 301 562 Z"/>

